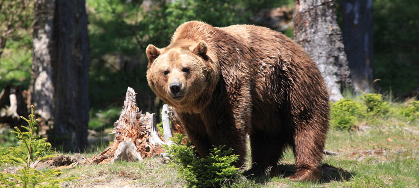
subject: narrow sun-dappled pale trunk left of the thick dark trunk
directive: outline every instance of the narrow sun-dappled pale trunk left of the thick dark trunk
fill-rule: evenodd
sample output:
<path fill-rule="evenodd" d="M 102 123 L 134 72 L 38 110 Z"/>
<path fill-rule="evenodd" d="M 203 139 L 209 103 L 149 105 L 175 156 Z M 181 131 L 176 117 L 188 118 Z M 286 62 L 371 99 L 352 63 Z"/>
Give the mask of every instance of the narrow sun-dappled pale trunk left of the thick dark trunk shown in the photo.
<path fill-rule="evenodd" d="M 36 0 L 34 4 L 32 75 L 27 103 L 35 106 L 41 128 L 52 121 L 54 112 L 51 66 L 54 6 L 54 0 Z"/>

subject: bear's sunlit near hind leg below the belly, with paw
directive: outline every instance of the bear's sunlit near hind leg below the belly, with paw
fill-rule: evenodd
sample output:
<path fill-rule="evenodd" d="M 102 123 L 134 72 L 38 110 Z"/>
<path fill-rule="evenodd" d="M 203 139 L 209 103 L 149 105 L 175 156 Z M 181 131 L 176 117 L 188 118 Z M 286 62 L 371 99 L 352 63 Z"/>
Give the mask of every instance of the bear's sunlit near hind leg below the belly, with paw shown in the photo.
<path fill-rule="evenodd" d="M 307 128 L 307 127 L 303 127 Z M 292 143 L 297 172 L 291 181 L 317 181 L 321 178 L 321 160 L 325 135 L 321 129 L 296 130 Z"/>

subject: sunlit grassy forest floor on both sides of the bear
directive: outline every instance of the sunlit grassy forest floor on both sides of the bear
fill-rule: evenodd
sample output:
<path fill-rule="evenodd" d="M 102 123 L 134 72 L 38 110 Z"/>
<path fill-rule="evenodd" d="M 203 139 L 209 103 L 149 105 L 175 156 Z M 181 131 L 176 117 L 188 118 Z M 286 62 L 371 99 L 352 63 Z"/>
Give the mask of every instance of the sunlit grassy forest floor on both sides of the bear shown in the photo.
<path fill-rule="evenodd" d="M 273 178 L 243 178 L 234 184 L 239 188 L 419 187 L 419 122 L 400 123 L 388 118 L 376 124 L 362 123 L 352 132 L 333 129 L 329 131 L 325 149 L 338 154 L 324 155 L 323 178 L 318 183 L 291 182 L 284 178 L 291 174 L 285 173 Z M 98 148 L 96 152 L 83 153 L 82 156 L 89 158 L 100 152 L 101 149 Z M 292 172 L 294 160 L 292 151 L 287 150 L 275 170 Z M 249 166 L 250 162 L 247 162 L 247 167 Z M 72 169 L 64 169 L 61 176 L 80 178 L 75 183 L 62 184 L 64 188 L 185 186 L 185 182 L 178 177 L 176 167 L 161 157 L 132 163 L 78 165 Z"/>

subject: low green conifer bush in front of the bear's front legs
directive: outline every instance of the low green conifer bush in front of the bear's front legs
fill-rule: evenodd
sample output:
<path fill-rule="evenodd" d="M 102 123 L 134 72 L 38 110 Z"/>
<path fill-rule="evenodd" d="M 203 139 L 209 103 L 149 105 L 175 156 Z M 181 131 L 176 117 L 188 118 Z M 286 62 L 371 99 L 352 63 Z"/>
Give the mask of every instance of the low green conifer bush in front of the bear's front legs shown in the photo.
<path fill-rule="evenodd" d="M 166 151 L 173 156 L 180 176 L 188 188 L 220 187 L 224 181 L 235 180 L 239 168 L 233 165 L 239 155 L 231 154 L 233 149 L 214 147 L 207 158 L 200 158 L 190 142 L 181 134 L 175 134 L 173 144 Z"/>

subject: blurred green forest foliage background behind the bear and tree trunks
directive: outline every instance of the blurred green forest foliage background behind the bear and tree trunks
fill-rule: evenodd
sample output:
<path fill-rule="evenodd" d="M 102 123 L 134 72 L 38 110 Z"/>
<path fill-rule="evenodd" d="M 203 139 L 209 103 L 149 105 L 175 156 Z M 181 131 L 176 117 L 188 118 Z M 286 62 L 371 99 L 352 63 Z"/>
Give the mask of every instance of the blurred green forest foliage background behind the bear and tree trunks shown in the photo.
<path fill-rule="evenodd" d="M 145 47 L 165 47 L 183 22 L 214 26 L 254 24 L 249 18 L 263 8 L 292 7 L 293 0 L 86 0 L 91 44 L 91 129 L 112 127 L 119 117 L 127 86 L 138 93 L 138 105 L 157 111 L 160 105 L 146 82 Z M 374 72 L 383 91 L 403 94 L 419 86 L 419 1 L 373 0 Z M 30 10 L 32 11 L 32 10 Z M 32 59 L 30 17 L 7 41 L 0 57 L 0 90 L 5 84 L 27 89 Z M 286 34 L 292 37 L 292 30 Z M 153 101 L 153 102 L 150 102 Z M 1 139 L 1 138 L 0 138 Z"/>

